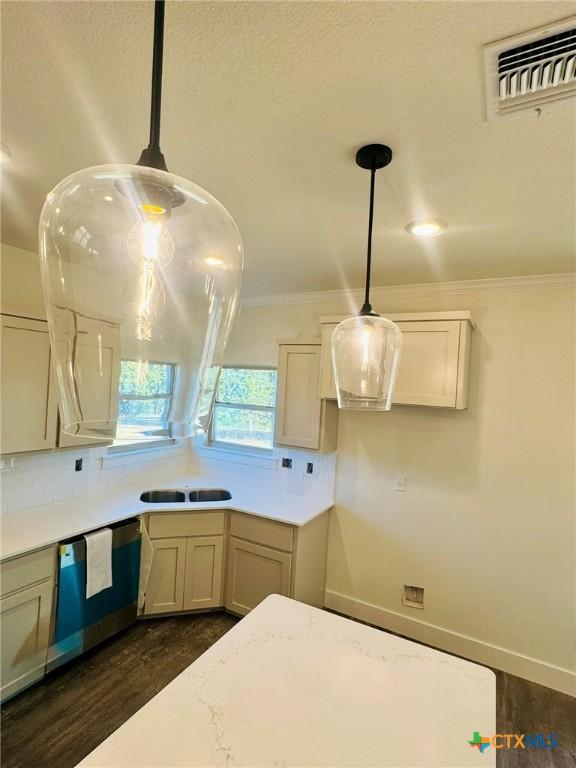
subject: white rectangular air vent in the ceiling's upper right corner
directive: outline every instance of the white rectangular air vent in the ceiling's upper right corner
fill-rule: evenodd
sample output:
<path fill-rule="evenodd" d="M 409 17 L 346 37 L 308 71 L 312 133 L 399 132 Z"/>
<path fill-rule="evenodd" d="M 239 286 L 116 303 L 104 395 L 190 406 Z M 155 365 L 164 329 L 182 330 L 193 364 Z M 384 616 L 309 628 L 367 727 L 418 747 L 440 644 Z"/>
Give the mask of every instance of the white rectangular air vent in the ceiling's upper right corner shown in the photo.
<path fill-rule="evenodd" d="M 488 119 L 576 94 L 576 17 L 485 47 Z"/>

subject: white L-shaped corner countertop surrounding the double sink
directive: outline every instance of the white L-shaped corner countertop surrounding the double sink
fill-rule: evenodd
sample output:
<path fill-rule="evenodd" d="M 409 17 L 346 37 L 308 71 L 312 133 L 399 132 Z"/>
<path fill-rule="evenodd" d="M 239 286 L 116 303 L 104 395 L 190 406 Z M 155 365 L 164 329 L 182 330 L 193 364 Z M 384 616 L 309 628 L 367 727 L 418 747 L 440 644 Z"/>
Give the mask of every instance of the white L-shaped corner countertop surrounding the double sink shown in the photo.
<path fill-rule="evenodd" d="M 0 560 L 30 552 L 129 517 L 149 512 L 200 512 L 232 509 L 267 517 L 289 525 L 302 526 L 333 506 L 332 499 L 314 499 L 239 485 L 222 477 L 188 475 L 162 481 L 152 488 L 223 488 L 232 494 L 229 501 L 146 504 L 140 494 L 149 488 L 124 486 L 108 492 L 78 496 L 0 516 Z"/>

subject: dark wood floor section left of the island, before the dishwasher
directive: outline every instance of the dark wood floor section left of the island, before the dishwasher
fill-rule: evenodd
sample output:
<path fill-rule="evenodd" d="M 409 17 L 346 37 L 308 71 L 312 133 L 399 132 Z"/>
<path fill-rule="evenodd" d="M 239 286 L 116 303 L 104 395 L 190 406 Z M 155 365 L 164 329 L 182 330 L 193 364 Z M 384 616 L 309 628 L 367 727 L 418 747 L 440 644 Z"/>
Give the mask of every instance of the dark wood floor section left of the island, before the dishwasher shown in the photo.
<path fill-rule="evenodd" d="M 139 621 L 6 702 L 2 768 L 73 768 L 234 626 L 226 613 Z"/>

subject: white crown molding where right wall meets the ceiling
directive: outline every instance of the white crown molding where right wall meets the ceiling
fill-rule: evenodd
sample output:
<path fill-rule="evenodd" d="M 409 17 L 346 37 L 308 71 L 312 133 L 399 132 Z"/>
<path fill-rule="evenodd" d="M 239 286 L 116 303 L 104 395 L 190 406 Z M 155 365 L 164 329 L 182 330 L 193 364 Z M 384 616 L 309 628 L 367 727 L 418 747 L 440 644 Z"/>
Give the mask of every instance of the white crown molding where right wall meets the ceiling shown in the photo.
<path fill-rule="evenodd" d="M 467 293 L 492 293 L 526 291 L 534 288 L 575 288 L 576 272 L 550 275 L 520 275 L 518 277 L 487 277 L 479 280 L 452 280 L 444 283 L 414 283 L 373 288 L 373 303 L 393 299 L 432 296 L 457 296 Z M 243 307 L 268 307 L 288 304 L 358 303 L 362 301 L 362 288 L 335 291 L 303 291 L 302 293 L 277 293 L 269 296 L 247 296 L 241 300 Z"/>

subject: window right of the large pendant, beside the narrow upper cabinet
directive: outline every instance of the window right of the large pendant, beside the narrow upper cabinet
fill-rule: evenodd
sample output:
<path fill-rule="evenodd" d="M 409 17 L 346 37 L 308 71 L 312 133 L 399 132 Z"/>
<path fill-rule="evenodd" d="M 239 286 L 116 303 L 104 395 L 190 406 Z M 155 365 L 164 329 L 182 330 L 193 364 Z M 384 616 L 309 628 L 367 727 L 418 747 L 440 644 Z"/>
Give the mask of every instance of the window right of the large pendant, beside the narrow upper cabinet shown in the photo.
<path fill-rule="evenodd" d="M 274 368 L 223 368 L 214 403 L 211 442 L 271 450 L 275 403 Z"/>

